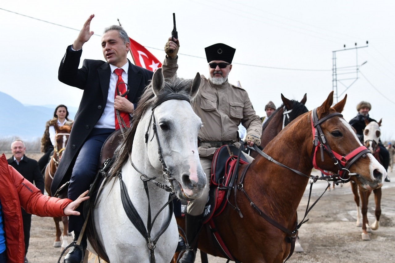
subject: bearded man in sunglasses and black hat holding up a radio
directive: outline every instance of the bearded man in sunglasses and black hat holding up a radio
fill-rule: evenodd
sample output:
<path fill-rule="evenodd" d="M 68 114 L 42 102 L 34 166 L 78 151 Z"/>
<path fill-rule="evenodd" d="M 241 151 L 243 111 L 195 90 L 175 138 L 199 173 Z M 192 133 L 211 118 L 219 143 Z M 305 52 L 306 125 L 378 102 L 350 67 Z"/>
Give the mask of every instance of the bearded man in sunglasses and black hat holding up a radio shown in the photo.
<path fill-rule="evenodd" d="M 162 64 L 165 78 L 171 78 L 177 72 L 177 53 L 179 40 L 169 38 L 165 45 L 166 59 Z M 205 48 L 207 62 L 209 62 L 209 79 L 201 75 L 200 96 L 194 103 L 194 111 L 201 118 L 203 126 L 199 131 L 198 151 L 200 162 L 207 176 L 207 187 L 203 195 L 188 203 L 186 210 L 186 238 L 188 243 L 195 241 L 194 251 L 186 250 L 180 263 L 194 262 L 197 250 L 198 231 L 201 228 L 203 211 L 209 196 L 211 179 L 211 163 L 215 151 L 223 145 L 233 144 L 241 146 L 238 126 L 241 123 L 246 128 L 248 146 L 261 144 L 262 125 L 256 115 L 247 92 L 228 82 L 228 75 L 232 69 L 233 55 L 236 49 L 225 44 L 214 44 Z M 245 154 L 245 153 L 243 153 Z M 251 163 L 254 160 L 246 155 Z"/>

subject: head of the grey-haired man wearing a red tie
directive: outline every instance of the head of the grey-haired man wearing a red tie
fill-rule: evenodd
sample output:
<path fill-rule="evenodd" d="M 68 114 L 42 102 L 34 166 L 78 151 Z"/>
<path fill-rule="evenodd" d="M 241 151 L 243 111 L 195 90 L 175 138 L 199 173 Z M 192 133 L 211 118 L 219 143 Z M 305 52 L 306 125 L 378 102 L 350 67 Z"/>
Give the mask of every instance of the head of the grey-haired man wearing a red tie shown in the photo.
<path fill-rule="evenodd" d="M 130 43 L 124 43 L 117 30 L 110 30 L 102 37 L 102 49 L 104 59 L 117 68 L 126 64 Z"/>

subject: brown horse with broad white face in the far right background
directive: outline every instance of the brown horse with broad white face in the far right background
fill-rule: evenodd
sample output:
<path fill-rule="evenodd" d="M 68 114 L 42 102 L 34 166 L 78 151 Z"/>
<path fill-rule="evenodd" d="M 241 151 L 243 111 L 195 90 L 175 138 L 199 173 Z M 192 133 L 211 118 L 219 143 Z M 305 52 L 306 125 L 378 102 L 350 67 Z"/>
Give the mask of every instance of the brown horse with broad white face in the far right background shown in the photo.
<path fill-rule="evenodd" d="M 377 123 L 375 121 L 371 121 L 370 123 L 365 120 L 366 127 L 365 130 L 363 130 L 363 142 L 365 146 L 371 151 L 371 153 L 374 155 L 374 157 L 380 161 L 380 147 L 378 147 L 379 140 L 380 140 L 380 126 L 381 126 L 381 119 Z M 371 226 L 369 226 L 369 221 L 367 218 L 367 211 L 368 211 L 368 202 L 369 202 L 369 196 L 372 193 L 372 190 L 366 191 L 366 189 L 361 189 L 361 187 L 358 187 L 354 182 L 352 182 L 351 185 L 352 192 L 354 193 L 354 201 L 357 204 L 357 227 L 362 226 L 362 240 L 370 240 L 369 237 L 369 232 L 372 232 L 373 230 L 377 230 L 379 227 L 379 220 L 381 216 L 381 188 L 377 188 L 373 190 L 374 193 L 374 202 L 376 203 L 376 209 L 374 210 L 374 216 L 376 217 L 376 220 L 372 223 Z M 361 196 L 361 210 L 359 210 L 359 195 L 358 195 L 358 189 L 359 189 L 359 195 Z M 361 222 L 361 212 L 362 212 L 362 222 Z"/>

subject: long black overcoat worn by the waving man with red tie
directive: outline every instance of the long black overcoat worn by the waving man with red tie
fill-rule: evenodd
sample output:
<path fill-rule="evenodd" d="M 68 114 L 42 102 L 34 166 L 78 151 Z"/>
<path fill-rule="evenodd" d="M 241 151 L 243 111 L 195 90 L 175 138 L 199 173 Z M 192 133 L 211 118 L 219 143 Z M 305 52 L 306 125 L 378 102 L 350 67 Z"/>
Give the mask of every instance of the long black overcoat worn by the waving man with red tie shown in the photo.
<path fill-rule="evenodd" d="M 51 193 L 54 194 L 60 185 L 71 177 L 71 171 L 79 150 L 87 140 L 96 122 L 104 112 L 110 85 L 110 65 L 101 60 L 85 59 L 82 68 L 78 68 L 82 49 L 72 51 L 67 47 L 66 54 L 60 62 L 58 79 L 70 86 L 83 89 L 83 95 L 62 161 L 56 170 Z M 128 100 L 135 105 L 152 79 L 152 71 L 133 65 L 129 60 Z"/>

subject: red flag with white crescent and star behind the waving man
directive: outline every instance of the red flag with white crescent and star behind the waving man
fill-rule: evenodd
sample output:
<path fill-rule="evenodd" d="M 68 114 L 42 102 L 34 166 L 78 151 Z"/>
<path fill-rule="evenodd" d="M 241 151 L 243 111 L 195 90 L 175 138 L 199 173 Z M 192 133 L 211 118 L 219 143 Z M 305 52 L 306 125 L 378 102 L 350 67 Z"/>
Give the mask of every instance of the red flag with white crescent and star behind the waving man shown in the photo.
<path fill-rule="evenodd" d="M 130 53 L 132 53 L 133 61 L 136 66 L 141 66 L 147 70 L 154 71 L 162 67 L 162 63 L 158 61 L 145 47 L 130 39 Z"/>

